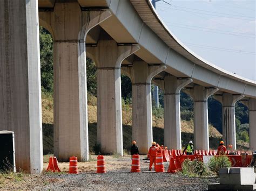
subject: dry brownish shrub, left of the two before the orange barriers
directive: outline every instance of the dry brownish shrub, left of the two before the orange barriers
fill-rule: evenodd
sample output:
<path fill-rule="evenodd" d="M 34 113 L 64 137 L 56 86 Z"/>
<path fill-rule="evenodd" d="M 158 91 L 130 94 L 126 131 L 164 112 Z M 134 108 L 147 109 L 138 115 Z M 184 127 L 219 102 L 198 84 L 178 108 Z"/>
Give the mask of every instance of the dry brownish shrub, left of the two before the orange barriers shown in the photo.
<path fill-rule="evenodd" d="M 204 176 L 206 175 L 206 166 L 200 159 L 184 160 L 182 166 L 182 173 L 189 176 Z"/>

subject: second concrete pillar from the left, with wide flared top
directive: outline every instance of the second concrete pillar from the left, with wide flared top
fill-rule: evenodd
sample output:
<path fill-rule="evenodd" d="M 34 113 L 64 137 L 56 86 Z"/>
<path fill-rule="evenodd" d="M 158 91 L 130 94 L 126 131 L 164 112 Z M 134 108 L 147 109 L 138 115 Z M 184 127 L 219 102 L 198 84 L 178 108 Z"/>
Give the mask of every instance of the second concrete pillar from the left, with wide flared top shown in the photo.
<path fill-rule="evenodd" d="M 54 154 L 89 160 L 85 37 L 111 16 L 108 11 L 82 11 L 78 3 L 55 3 L 53 12 L 40 12 L 41 24 L 54 44 Z"/>

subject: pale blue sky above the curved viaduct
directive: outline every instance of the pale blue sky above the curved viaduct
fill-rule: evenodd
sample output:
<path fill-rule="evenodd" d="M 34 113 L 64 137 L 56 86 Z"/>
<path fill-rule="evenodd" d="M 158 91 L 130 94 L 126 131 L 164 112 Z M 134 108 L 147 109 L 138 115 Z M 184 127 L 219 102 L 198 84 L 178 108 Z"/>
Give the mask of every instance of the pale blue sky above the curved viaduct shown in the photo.
<path fill-rule="evenodd" d="M 254 0 L 165 0 L 156 9 L 174 36 L 194 53 L 256 81 Z"/>

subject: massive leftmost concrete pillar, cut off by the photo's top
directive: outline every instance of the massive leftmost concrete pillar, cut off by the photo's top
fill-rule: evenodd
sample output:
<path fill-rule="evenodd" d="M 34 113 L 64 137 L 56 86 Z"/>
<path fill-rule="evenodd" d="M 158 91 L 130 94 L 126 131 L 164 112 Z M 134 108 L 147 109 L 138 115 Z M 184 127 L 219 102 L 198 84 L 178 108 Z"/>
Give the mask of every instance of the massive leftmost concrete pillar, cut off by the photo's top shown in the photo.
<path fill-rule="evenodd" d="M 0 68 L 0 130 L 15 133 L 16 168 L 41 173 L 43 144 L 37 1 L 0 1 Z"/>

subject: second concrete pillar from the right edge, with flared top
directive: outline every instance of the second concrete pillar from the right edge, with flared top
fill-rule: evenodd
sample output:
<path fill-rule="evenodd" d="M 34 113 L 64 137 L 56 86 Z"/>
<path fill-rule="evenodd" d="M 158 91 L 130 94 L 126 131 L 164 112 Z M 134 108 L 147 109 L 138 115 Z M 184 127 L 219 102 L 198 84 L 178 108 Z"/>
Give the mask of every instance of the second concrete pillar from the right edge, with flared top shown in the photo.
<path fill-rule="evenodd" d="M 237 139 L 235 136 L 235 103 L 237 103 L 244 95 L 233 95 L 223 93 L 223 95 L 215 95 L 223 106 L 223 140 L 225 145 L 233 145 L 233 150 L 237 149 Z"/>

